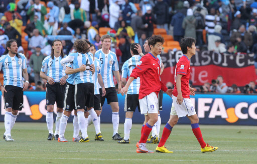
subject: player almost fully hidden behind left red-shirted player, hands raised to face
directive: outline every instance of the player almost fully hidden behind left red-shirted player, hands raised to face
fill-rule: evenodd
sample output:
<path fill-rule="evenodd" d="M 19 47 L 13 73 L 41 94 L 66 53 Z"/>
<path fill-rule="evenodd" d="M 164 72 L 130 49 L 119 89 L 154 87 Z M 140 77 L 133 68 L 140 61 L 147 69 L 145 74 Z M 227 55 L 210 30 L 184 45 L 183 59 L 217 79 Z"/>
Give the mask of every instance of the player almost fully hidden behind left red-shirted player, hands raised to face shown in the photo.
<path fill-rule="evenodd" d="M 149 41 L 150 38 L 147 38 L 145 44 L 144 44 L 144 49 L 145 49 L 145 52 L 149 53 L 151 52 L 151 49 L 149 47 L 149 44 L 148 44 L 148 41 Z M 138 44 L 137 45 L 137 48 L 136 50 L 138 50 L 138 52 L 140 53 L 141 56 L 144 56 L 144 54 L 142 53 L 142 49 L 141 49 L 141 46 Z M 157 55 L 157 58 L 160 60 L 161 62 L 161 74 L 163 73 L 163 70 L 164 70 L 164 65 L 162 63 L 162 59 L 161 59 L 161 56 L 160 55 Z M 161 80 L 161 77 L 160 77 L 160 80 Z M 152 135 L 150 135 L 150 137 L 147 139 L 147 143 L 159 143 L 160 141 L 160 128 L 161 128 L 161 116 L 160 116 L 160 111 L 163 110 L 163 91 L 160 90 L 159 94 L 158 94 L 158 121 L 155 123 L 155 125 L 153 126 L 153 129 L 152 129 Z M 143 126 L 142 126 L 142 132 L 143 132 L 143 128 L 145 126 L 145 124 L 147 123 L 149 117 L 147 115 L 145 115 L 145 121 L 143 123 Z"/>

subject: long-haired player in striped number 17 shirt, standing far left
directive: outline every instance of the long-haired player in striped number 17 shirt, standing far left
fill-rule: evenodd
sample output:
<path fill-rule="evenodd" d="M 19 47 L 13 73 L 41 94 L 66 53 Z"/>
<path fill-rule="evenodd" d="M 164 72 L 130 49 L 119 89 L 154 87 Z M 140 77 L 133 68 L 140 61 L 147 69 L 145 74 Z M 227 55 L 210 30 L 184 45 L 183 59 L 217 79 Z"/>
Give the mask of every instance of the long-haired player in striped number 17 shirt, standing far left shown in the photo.
<path fill-rule="evenodd" d="M 29 86 L 26 58 L 24 54 L 18 53 L 16 40 L 7 41 L 6 51 L 0 58 L 0 71 L 1 69 L 4 72 L 4 86 L 0 82 L 0 87 L 6 109 L 4 139 L 14 141 L 11 130 L 14 127 L 18 110 L 22 110 L 23 107 L 23 91 Z"/>

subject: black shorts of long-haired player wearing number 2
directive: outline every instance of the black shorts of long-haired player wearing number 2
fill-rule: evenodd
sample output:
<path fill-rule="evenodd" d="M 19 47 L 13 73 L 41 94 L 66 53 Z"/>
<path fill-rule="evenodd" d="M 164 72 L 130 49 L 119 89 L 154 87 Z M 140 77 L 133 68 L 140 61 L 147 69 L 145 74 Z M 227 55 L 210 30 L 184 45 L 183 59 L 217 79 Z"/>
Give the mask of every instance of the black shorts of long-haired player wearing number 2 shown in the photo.
<path fill-rule="evenodd" d="M 46 83 L 46 105 L 54 105 L 56 101 L 57 108 L 63 108 L 65 85 Z"/>

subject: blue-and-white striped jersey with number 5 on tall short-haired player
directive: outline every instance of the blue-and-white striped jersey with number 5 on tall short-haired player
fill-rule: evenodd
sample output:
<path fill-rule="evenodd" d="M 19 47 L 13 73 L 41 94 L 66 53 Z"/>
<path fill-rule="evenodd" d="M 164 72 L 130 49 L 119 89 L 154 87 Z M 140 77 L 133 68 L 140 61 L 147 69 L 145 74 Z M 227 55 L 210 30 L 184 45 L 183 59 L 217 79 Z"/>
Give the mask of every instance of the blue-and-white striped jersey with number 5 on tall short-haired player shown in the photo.
<path fill-rule="evenodd" d="M 108 54 L 104 54 L 102 49 L 100 49 L 95 52 L 94 57 L 101 61 L 101 75 L 104 87 L 115 87 L 112 71 L 118 71 L 118 60 L 116 54 L 110 50 Z"/>

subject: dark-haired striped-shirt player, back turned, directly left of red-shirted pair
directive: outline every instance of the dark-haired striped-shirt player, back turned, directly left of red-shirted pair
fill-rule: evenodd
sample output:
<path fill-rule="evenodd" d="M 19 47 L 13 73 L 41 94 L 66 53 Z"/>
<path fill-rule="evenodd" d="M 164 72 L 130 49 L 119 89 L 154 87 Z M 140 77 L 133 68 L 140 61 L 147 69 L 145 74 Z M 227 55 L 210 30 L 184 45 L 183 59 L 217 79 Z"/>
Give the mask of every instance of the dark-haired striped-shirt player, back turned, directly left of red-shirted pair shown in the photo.
<path fill-rule="evenodd" d="M 126 85 L 126 77 L 130 77 L 132 71 L 136 66 L 139 64 L 141 60 L 141 56 L 138 53 L 138 50 L 135 48 L 137 43 L 131 44 L 130 50 L 132 57 L 125 61 L 122 66 L 122 75 L 121 75 L 121 82 L 125 86 Z M 133 112 L 136 111 L 138 106 L 138 110 L 140 112 L 140 105 L 139 105 L 139 88 L 140 88 L 140 78 L 133 80 L 131 83 L 129 90 L 127 91 L 125 97 L 125 104 L 124 104 L 124 111 L 125 114 L 125 122 L 124 122 L 124 138 L 118 143 L 130 143 L 130 131 L 132 128 L 132 117 Z"/>

